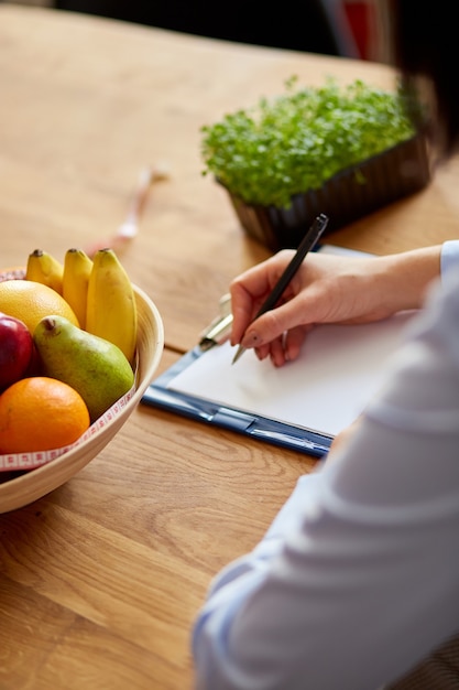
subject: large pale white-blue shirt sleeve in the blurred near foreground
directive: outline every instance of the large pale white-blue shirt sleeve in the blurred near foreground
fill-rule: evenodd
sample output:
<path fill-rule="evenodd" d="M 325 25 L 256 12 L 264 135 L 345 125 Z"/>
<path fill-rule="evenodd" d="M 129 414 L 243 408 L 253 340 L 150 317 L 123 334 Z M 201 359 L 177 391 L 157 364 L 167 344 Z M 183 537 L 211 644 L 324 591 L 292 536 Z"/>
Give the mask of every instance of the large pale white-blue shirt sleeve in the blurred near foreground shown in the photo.
<path fill-rule="evenodd" d="M 199 690 L 375 690 L 459 629 L 459 281 L 351 442 L 214 581 Z"/>

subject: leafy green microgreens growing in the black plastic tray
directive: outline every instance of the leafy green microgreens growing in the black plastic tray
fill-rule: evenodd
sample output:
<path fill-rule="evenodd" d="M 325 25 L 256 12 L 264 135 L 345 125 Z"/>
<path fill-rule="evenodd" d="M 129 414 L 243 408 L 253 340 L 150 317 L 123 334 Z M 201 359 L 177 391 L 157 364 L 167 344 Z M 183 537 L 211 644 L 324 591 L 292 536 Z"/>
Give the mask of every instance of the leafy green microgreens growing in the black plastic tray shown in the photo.
<path fill-rule="evenodd" d="M 291 77 L 282 96 L 204 126 L 203 174 L 248 204 L 288 207 L 294 194 L 415 134 L 398 91 L 360 79 L 303 89 Z"/>

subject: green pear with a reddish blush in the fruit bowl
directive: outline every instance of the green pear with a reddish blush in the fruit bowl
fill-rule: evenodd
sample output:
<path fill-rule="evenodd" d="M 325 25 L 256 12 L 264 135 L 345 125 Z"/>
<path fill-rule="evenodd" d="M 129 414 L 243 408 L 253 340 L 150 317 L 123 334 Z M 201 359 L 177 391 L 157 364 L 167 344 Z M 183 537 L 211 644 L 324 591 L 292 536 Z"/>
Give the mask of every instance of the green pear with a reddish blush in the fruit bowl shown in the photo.
<path fill-rule="evenodd" d="M 134 374 L 121 349 L 64 316 L 42 319 L 33 341 L 43 374 L 75 388 L 88 407 L 91 422 L 133 386 Z"/>

